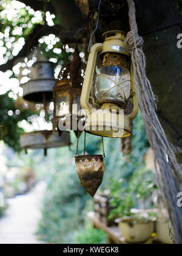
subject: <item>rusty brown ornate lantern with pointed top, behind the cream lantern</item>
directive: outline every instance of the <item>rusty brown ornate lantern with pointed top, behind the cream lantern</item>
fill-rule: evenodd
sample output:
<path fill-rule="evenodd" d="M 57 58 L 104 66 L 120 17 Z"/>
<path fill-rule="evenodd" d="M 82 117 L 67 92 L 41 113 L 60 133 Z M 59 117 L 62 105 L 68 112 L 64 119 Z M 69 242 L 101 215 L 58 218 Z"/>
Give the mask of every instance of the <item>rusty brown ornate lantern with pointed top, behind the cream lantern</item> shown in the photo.
<path fill-rule="evenodd" d="M 84 79 L 84 63 L 76 47 L 73 59 L 64 65 L 53 88 L 54 116 L 53 130 L 74 130 L 80 134 L 78 121 L 81 118 L 81 88 Z"/>

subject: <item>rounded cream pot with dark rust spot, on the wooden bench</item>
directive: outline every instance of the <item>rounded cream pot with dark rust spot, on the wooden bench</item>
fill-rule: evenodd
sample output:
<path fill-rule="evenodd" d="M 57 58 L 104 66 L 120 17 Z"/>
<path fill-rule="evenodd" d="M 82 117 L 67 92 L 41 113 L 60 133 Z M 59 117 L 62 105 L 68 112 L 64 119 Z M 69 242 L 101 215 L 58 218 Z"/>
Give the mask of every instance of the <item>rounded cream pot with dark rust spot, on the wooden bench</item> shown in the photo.
<path fill-rule="evenodd" d="M 121 235 L 129 243 L 143 243 L 154 232 L 154 222 L 133 222 L 135 219 L 121 219 L 119 227 Z"/>

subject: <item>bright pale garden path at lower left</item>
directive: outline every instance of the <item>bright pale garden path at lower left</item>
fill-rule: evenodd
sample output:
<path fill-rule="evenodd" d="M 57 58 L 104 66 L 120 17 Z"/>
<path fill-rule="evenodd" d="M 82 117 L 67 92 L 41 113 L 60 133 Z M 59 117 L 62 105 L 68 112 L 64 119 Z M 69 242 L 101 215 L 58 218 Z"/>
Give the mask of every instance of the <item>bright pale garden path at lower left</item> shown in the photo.
<path fill-rule="evenodd" d="M 44 244 L 35 235 L 44 189 L 44 182 L 39 182 L 29 193 L 8 199 L 8 209 L 0 219 L 0 244 Z"/>

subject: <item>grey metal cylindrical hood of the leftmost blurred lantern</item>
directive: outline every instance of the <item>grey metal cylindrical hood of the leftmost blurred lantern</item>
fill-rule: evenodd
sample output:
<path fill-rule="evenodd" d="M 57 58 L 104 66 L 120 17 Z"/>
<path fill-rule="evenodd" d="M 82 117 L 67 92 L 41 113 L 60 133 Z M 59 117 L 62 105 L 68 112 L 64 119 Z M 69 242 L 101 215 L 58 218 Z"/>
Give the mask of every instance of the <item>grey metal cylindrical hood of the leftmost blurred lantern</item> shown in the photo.
<path fill-rule="evenodd" d="M 38 103 L 52 101 L 52 91 L 55 85 L 53 63 L 36 62 L 30 70 L 30 80 L 22 85 L 25 101 Z"/>

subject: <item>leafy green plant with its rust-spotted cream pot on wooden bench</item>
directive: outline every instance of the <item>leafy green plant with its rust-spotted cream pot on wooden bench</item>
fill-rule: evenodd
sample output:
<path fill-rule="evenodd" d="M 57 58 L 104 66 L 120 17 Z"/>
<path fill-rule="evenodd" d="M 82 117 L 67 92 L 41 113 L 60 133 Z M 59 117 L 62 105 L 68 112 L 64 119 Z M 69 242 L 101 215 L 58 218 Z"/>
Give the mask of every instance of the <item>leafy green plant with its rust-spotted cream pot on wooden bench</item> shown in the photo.
<path fill-rule="evenodd" d="M 157 214 L 140 211 L 132 213 L 132 208 L 152 207 L 152 191 L 155 189 L 153 173 L 146 168 L 136 170 L 129 181 L 119 180 L 112 183 L 112 207 L 110 218 L 118 218 L 121 234 L 129 243 L 143 243 L 154 232 Z M 146 204 L 147 202 L 147 204 Z"/>

